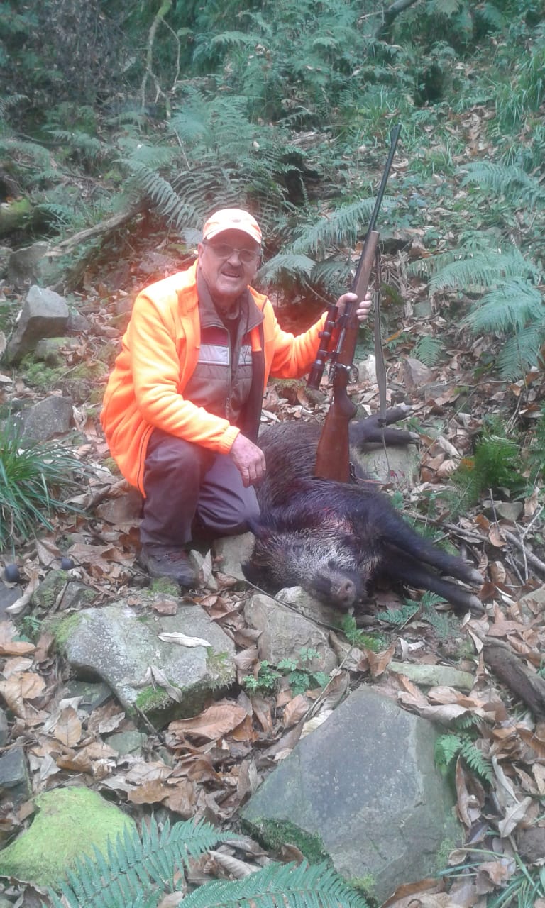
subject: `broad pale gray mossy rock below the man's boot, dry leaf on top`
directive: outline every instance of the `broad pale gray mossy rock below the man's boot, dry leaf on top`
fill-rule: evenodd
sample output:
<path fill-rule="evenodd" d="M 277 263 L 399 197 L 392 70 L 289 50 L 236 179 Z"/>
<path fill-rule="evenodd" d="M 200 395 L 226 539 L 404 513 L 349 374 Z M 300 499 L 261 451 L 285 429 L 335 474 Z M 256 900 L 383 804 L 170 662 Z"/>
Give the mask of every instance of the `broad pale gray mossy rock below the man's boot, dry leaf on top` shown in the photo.
<path fill-rule="evenodd" d="M 163 642 L 161 633 L 200 637 L 209 646 Z M 86 608 L 62 620 L 54 635 L 76 674 L 102 678 L 130 714 L 140 710 L 154 725 L 195 716 L 235 676 L 233 641 L 200 607 L 183 601 L 176 615 L 161 617 L 124 600 Z M 146 679 L 150 667 L 168 680 L 172 696 Z"/>

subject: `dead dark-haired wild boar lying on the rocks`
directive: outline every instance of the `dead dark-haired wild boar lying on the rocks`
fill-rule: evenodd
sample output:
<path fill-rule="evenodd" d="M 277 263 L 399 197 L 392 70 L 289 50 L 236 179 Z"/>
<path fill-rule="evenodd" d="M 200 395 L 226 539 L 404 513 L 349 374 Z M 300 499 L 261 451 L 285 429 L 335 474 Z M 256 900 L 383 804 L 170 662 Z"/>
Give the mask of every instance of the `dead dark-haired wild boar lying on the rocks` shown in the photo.
<path fill-rule="evenodd" d="M 390 410 L 389 420 L 401 415 Z M 351 444 L 376 439 L 376 429 L 376 418 L 352 424 Z M 255 545 L 243 565 L 247 579 L 271 593 L 301 586 L 342 610 L 386 579 L 429 589 L 459 614 L 481 612 L 478 597 L 444 577 L 481 587 L 480 573 L 422 538 L 372 483 L 313 477 L 320 432 L 317 425 L 284 422 L 260 435 L 267 472 L 256 487 L 261 515 L 250 525 Z M 410 436 L 388 429 L 386 440 L 406 442 Z"/>

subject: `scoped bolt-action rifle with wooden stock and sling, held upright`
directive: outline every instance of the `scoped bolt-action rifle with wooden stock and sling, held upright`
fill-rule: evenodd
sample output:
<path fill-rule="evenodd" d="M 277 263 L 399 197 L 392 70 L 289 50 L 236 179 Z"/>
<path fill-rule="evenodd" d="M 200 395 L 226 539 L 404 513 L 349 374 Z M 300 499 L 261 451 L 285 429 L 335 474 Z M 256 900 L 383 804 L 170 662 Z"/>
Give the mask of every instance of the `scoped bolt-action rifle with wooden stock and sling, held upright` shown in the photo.
<path fill-rule="evenodd" d="M 372 266 L 375 260 L 377 261 L 378 271 L 378 242 L 380 234 L 375 230 L 375 225 L 386 189 L 386 183 L 388 182 L 388 177 L 390 175 L 391 162 L 393 161 L 400 133 L 401 124 L 398 124 L 391 132 L 391 145 L 388 160 L 384 168 L 384 173 L 382 174 L 381 186 L 373 208 L 369 229 L 363 243 L 362 256 L 352 282 L 352 293 L 357 294 L 358 301 L 362 300 L 368 291 Z M 380 281 L 377 281 L 377 283 L 380 283 Z M 353 360 L 359 330 L 359 323 L 356 317 L 358 301 L 349 303 L 342 314 L 339 314 L 339 310 L 335 305 L 328 306 L 327 317 L 323 330 L 320 333 L 322 339 L 320 350 L 318 350 L 316 360 L 314 361 L 307 381 L 307 387 L 314 390 L 318 389 L 320 387 L 320 381 L 322 380 L 326 360 L 330 360 L 330 378 L 332 380 L 333 389 L 332 402 L 323 424 L 320 441 L 318 442 L 314 475 L 321 477 L 322 479 L 337 479 L 340 482 L 348 482 L 350 479 L 351 468 L 348 425 L 357 411 L 357 408 L 348 396 L 347 387 L 354 371 L 356 373 L 355 380 L 357 380 L 357 369 L 354 366 Z M 377 331 L 380 347 L 380 311 L 377 311 L 377 308 L 375 308 L 375 347 L 377 346 Z M 382 372 L 384 372 L 384 363 L 381 356 L 379 357 L 377 355 L 376 360 L 377 378 L 379 379 L 379 386 L 381 386 L 382 376 L 379 375 L 379 370 L 381 369 Z M 383 376 L 383 385 L 385 387 L 385 372 Z M 381 410 L 385 410 L 385 404 L 383 406 L 381 405 Z M 383 416 L 382 412 L 381 416 Z"/>

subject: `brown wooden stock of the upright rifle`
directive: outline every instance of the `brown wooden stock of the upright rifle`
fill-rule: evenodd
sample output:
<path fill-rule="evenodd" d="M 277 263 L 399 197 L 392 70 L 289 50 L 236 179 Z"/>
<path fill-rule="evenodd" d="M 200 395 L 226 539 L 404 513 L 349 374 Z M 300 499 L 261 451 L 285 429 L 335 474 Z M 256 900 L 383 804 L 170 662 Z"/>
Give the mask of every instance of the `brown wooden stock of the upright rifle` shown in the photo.
<path fill-rule="evenodd" d="M 363 247 L 361 267 L 353 283 L 353 292 L 362 300 L 369 287 L 371 270 L 374 262 L 379 233 L 371 231 Z M 357 302 L 347 306 L 347 311 L 339 317 L 345 324 L 341 329 L 334 360 L 333 397 L 323 423 L 322 434 L 316 452 L 314 475 L 322 479 L 337 479 L 338 482 L 348 482 L 350 479 L 350 445 L 348 438 L 348 424 L 356 415 L 356 406 L 348 396 L 348 382 L 354 352 L 358 342 L 359 324 L 356 318 Z"/>

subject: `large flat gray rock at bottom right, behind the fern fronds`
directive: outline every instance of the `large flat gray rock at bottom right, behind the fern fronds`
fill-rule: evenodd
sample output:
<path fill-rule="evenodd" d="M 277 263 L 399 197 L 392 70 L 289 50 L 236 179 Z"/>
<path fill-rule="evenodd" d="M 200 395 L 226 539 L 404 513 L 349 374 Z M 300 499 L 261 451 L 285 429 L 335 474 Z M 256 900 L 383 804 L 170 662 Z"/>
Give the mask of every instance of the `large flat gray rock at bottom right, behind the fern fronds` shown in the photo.
<path fill-rule="evenodd" d="M 454 795 L 435 768 L 435 736 L 428 721 L 362 686 L 265 779 L 243 822 L 267 844 L 329 855 L 382 902 L 397 885 L 434 875 L 441 845 L 461 836 Z"/>

